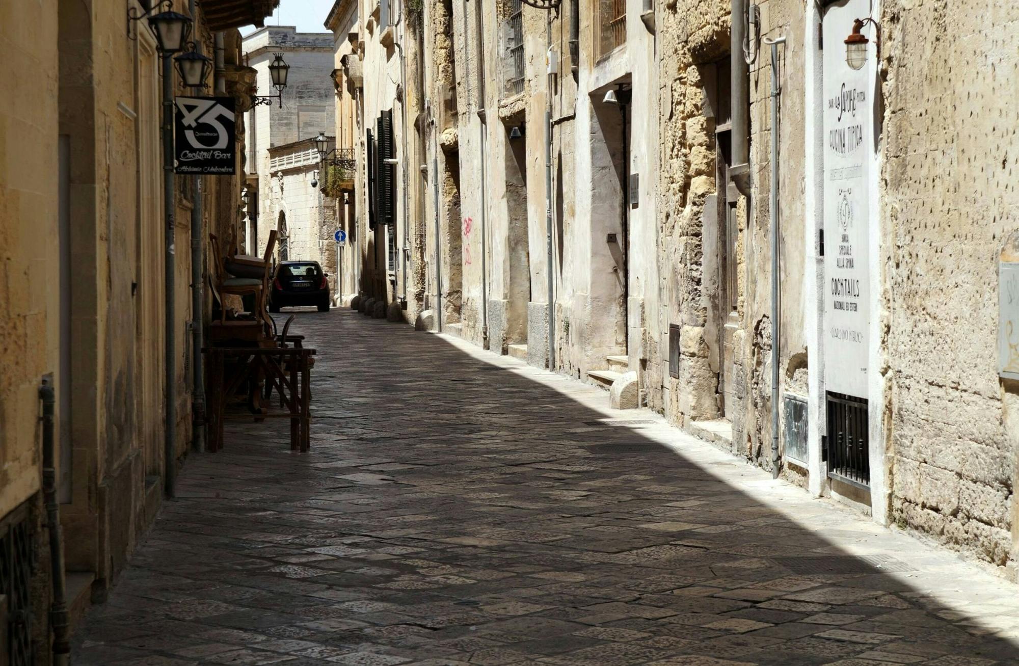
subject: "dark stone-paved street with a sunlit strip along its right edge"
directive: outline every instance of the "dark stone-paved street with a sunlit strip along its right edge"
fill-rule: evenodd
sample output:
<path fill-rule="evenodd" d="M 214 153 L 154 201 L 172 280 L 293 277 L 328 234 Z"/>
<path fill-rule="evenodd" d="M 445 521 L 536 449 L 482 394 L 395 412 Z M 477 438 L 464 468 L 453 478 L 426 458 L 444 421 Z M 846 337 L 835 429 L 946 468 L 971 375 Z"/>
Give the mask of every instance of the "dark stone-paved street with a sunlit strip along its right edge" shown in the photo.
<path fill-rule="evenodd" d="M 656 414 L 346 310 L 296 328 L 312 452 L 276 420 L 193 455 L 74 664 L 1019 664 L 1019 588 Z"/>

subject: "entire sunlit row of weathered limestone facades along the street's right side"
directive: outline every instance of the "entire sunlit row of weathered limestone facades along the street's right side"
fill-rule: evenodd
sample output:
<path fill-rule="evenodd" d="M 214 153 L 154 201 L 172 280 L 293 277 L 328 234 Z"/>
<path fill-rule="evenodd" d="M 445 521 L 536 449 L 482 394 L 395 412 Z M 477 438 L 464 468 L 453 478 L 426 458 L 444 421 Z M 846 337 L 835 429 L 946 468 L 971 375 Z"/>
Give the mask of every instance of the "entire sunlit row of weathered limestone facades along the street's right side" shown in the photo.
<path fill-rule="evenodd" d="M 342 279 L 1014 571 L 1017 16 L 914 5 L 337 2 Z"/>

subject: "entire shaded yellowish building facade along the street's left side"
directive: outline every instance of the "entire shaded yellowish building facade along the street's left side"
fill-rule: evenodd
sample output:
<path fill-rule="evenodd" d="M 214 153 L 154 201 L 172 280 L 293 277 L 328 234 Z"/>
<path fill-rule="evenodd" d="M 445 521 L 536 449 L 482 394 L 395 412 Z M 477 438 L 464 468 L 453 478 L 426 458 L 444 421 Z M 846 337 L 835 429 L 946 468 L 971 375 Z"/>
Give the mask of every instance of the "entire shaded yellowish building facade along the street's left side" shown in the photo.
<path fill-rule="evenodd" d="M 193 17 L 203 52 L 212 58 L 218 47 L 205 94 L 233 96 L 242 109 L 249 102 L 235 29 L 275 4 L 174 0 L 174 11 Z M 136 0 L 4 4 L 0 58 L 12 65 L 0 74 L 9 98 L 0 110 L 5 664 L 49 664 L 66 647 L 65 629 L 105 598 L 202 431 L 193 333 L 212 300 L 207 289 L 192 291 L 193 268 L 204 283 L 209 233 L 226 247 L 242 237 L 243 152 L 236 175 L 175 176 L 165 214 L 161 77 L 170 77 L 172 95 L 195 91 L 161 72 L 153 34 L 130 18 L 156 8 Z M 52 439 L 43 418 L 50 398 Z M 54 522 L 44 510 L 50 475 Z M 62 562 L 47 547 L 57 526 Z M 63 600 L 52 596 L 58 578 Z M 50 614 L 58 601 L 67 615 Z"/>

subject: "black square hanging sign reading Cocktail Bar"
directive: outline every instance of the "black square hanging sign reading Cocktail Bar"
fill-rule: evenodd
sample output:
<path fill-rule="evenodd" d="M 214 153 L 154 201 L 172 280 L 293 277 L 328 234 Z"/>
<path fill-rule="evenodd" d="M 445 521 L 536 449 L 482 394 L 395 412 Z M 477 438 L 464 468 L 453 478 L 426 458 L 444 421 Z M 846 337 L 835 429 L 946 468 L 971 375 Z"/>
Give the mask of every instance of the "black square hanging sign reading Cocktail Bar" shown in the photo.
<path fill-rule="evenodd" d="M 174 172 L 233 175 L 237 136 L 233 98 L 178 97 L 173 106 Z"/>

